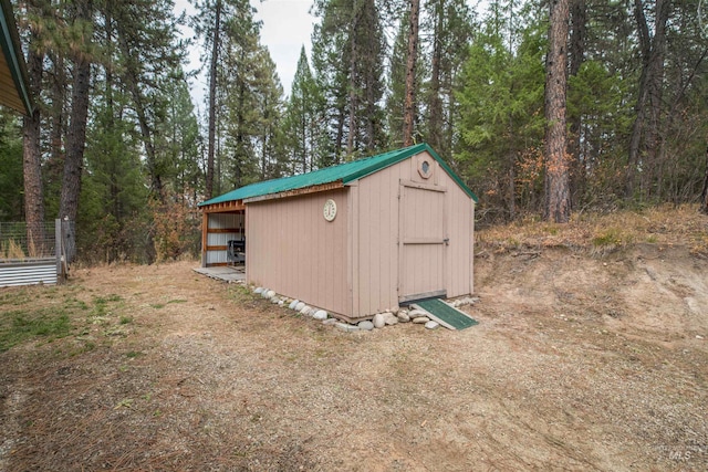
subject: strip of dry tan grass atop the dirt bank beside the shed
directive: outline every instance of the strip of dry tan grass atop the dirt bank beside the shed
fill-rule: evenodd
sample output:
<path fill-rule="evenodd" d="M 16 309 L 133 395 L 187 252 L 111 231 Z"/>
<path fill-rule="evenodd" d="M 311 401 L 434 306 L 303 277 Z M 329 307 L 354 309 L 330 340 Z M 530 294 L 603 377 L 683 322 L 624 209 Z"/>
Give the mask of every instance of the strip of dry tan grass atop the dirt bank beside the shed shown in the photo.
<path fill-rule="evenodd" d="M 633 244 L 679 245 L 708 258 L 708 217 L 697 206 L 574 214 L 568 224 L 527 219 L 477 232 L 478 251 L 569 248 L 593 254 Z"/>

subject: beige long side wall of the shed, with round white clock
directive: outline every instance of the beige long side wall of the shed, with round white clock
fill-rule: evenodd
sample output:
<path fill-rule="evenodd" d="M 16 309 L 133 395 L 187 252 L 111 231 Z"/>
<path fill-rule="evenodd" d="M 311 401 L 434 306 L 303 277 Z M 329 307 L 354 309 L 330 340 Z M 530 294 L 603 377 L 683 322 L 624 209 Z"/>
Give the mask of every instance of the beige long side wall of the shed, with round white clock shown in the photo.
<path fill-rule="evenodd" d="M 337 214 L 325 221 L 324 202 Z M 351 315 L 347 189 L 252 202 L 247 209 L 247 280 L 308 304 Z"/>

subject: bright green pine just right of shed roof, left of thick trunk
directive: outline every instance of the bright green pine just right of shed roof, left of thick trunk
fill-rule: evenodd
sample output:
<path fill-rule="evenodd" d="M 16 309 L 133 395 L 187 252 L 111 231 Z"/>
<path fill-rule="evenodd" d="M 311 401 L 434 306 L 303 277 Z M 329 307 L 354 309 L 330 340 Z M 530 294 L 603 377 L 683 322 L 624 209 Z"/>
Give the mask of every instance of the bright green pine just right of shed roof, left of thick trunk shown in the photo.
<path fill-rule="evenodd" d="M 455 94 L 456 161 L 472 188 L 487 196 L 486 211 L 503 220 L 516 218 L 518 207 L 538 204 L 545 39 L 543 23 L 530 12 L 524 17 L 530 21 L 513 33 L 514 46 L 507 15 L 489 12 Z"/>

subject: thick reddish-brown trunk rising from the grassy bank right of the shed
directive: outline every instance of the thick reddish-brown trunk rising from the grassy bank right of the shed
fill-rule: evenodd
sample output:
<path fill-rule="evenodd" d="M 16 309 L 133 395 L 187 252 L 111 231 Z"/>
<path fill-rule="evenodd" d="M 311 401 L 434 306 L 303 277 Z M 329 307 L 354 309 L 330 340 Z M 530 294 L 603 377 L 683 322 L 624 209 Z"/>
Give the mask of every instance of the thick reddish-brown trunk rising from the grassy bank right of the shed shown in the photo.
<path fill-rule="evenodd" d="M 566 223 L 571 214 L 565 159 L 565 84 L 569 0 L 551 0 L 545 61 L 545 219 Z"/>

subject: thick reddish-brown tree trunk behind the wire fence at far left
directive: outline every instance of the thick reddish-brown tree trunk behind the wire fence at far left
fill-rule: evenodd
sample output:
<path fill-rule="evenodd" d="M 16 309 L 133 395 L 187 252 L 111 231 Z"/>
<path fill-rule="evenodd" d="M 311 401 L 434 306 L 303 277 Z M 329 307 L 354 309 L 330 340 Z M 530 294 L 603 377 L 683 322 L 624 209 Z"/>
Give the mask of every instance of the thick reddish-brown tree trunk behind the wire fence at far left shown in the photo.
<path fill-rule="evenodd" d="M 44 242 L 44 195 L 42 192 L 42 166 L 40 148 L 40 91 L 42 86 L 42 64 L 44 54 L 39 53 L 37 32 L 30 34 L 28 49 L 28 72 L 30 93 L 35 106 L 31 116 L 25 116 L 22 126 L 22 166 L 24 172 L 24 219 L 27 222 L 27 240 L 30 248 L 40 250 Z"/>

